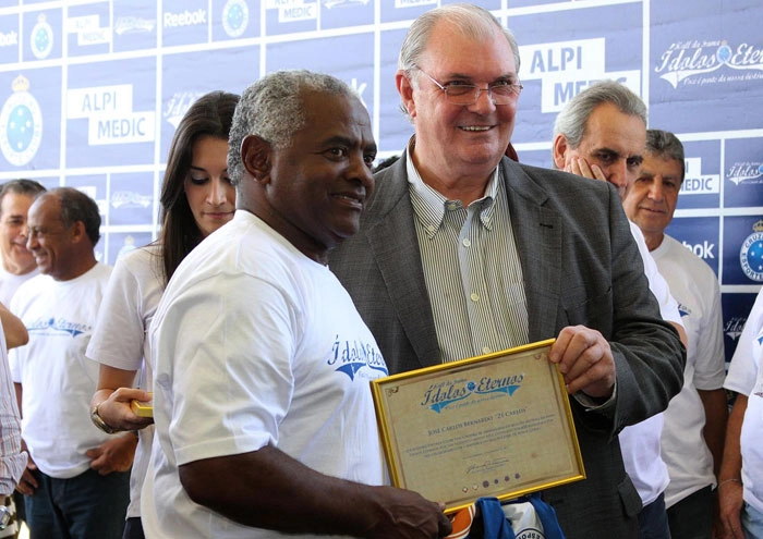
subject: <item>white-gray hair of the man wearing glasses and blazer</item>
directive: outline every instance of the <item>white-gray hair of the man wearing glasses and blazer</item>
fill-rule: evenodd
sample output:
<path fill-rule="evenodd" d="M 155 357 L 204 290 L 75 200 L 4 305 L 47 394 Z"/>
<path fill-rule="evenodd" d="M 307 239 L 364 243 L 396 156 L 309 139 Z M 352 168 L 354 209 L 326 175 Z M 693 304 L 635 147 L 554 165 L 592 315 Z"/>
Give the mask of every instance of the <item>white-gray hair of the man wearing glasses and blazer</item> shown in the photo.
<path fill-rule="evenodd" d="M 448 21 L 459 28 L 462 35 L 476 41 L 492 39 L 496 30 L 500 32 L 511 47 L 514 65 L 519 73 L 519 47 L 510 29 L 501 26 L 500 22 L 484 8 L 470 3 L 453 3 L 443 5 L 420 15 L 408 29 L 400 47 L 398 69 L 404 71 L 414 86 L 417 83 L 414 73 L 419 71 L 419 62 L 426 50 L 432 32 L 437 23 Z M 408 111 L 403 108 L 403 112 Z"/>

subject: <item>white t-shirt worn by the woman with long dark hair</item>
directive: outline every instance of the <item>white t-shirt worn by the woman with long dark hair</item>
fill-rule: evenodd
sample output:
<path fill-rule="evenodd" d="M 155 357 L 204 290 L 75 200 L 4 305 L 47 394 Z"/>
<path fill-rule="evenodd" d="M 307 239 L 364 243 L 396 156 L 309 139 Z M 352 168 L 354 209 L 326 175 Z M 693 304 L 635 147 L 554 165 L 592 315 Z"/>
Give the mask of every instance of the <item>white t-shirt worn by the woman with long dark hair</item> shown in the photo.
<path fill-rule="evenodd" d="M 109 285 L 87 346 L 87 357 L 100 364 L 138 372 L 141 389 L 152 391 L 148 327 L 164 292 L 161 249 L 149 245 L 117 259 Z M 154 426 L 138 431 L 135 460 L 130 475 L 128 517 L 141 515 L 141 489 L 152 453 Z"/>

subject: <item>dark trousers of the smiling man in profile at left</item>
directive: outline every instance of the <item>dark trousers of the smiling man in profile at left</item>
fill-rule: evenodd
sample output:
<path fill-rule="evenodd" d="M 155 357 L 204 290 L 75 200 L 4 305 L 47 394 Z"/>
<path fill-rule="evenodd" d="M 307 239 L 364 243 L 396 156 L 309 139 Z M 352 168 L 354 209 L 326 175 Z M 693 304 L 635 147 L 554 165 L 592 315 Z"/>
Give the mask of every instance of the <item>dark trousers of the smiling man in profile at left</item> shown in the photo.
<path fill-rule="evenodd" d="M 130 503 L 130 471 L 87 471 L 56 479 L 35 471 L 39 487 L 26 497 L 31 539 L 121 539 Z"/>

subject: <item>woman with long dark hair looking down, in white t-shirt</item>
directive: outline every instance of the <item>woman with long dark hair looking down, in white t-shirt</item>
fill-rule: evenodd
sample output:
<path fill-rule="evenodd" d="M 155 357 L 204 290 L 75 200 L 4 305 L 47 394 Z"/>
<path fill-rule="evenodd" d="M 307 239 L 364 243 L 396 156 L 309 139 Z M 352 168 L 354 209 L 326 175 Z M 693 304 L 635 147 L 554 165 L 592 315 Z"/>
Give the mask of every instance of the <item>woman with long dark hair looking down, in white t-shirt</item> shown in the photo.
<path fill-rule="evenodd" d="M 213 91 L 187 110 L 172 138 L 161 187 L 159 238 L 117 260 L 87 356 L 100 363 L 93 421 L 107 432 L 136 436 L 130 507 L 123 537 L 143 538 L 141 488 L 150 458 L 153 419 L 131 407 L 150 400 L 148 327 L 172 273 L 207 235 L 233 218 L 228 135 L 239 96 Z M 137 380 L 136 380 L 137 379 Z M 135 388 L 138 389 L 135 389 Z M 130 455 L 124 455 L 125 469 Z"/>

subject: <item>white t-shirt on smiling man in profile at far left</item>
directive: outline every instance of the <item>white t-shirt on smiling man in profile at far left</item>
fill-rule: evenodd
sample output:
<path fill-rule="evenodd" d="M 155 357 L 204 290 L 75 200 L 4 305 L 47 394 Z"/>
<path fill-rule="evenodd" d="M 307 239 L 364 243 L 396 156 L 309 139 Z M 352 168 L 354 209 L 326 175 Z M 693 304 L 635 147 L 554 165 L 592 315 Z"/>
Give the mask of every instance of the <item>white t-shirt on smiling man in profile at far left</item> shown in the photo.
<path fill-rule="evenodd" d="M 96 264 L 69 281 L 37 275 L 11 301 L 29 332 L 28 344 L 9 353 L 13 381 L 23 388 L 22 433 L 39 469 L 58 479 L 89 469 L 85 453 L 109 438 L 90 422 L 98 364 L 85 348 L 110 273 Z"/>

